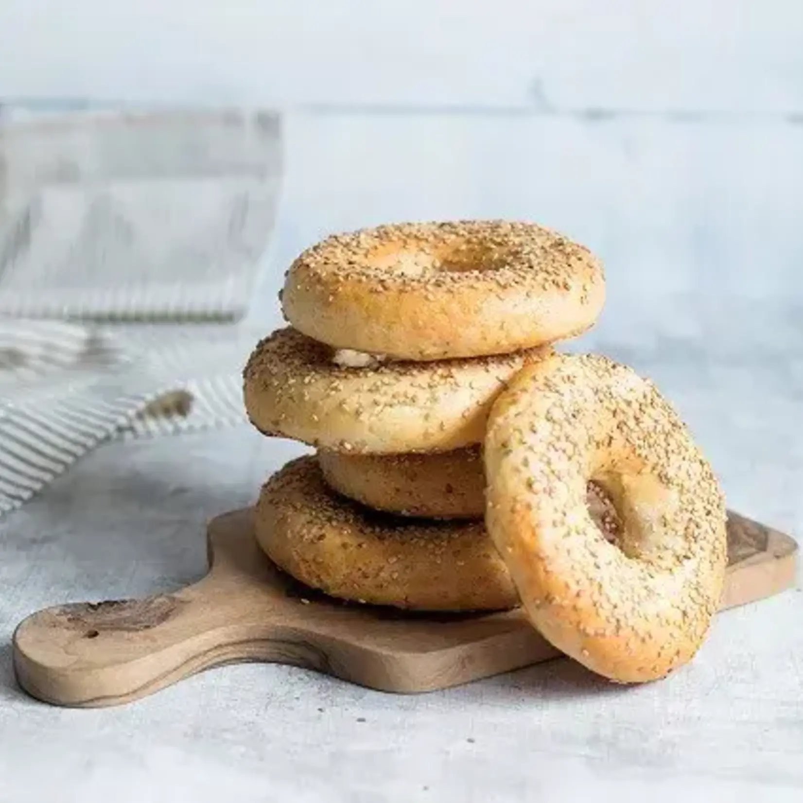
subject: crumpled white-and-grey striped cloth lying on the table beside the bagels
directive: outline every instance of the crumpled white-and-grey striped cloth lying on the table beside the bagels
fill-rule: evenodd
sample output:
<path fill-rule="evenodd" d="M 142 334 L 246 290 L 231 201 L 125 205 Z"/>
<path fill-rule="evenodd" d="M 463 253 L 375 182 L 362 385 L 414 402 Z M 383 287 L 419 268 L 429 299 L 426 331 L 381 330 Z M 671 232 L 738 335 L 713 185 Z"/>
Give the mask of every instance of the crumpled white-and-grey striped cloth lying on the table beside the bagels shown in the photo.
<path fill-rule="evenodd" d="M 0 514 L 108 438 L 246 422 L 242 369 L 261 333 L 0 318 Z"/>

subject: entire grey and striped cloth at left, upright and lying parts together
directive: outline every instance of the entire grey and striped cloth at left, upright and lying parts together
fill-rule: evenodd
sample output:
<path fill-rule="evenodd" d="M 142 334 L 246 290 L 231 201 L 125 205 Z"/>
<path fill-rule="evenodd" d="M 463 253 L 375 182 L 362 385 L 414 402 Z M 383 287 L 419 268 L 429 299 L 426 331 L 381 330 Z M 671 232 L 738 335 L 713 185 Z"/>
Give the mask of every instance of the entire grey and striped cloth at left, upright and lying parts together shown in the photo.
<path fill-rule="evenodd" d="M 256 337 L 220 321 L 247 312 L 282 148 L 272 112 L 2 111 L 5 512 L 106 438 L 245 420 Z"/>

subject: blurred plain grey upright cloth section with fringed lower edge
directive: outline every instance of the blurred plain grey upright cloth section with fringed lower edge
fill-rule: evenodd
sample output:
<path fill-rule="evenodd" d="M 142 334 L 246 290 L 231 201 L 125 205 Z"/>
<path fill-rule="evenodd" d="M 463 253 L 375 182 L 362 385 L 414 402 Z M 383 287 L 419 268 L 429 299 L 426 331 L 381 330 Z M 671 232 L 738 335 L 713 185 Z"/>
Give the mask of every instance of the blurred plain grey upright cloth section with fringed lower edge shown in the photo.
<path fill-rule="evenodd" d="M 0 314 L 238 320 L 273 229 L 274 112 L 0 117 Z"/>

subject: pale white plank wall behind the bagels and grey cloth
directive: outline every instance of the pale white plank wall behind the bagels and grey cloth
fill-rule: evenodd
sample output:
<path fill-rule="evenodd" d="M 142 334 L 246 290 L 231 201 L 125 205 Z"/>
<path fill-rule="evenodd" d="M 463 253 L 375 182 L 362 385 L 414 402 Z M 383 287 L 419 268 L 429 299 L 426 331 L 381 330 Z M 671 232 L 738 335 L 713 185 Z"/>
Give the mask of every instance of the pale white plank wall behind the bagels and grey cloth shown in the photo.
<path fill-rule="evenodd" d="M 4 0 L 0 92 L 280 108 L 278 263 L 379 221 L 535 218 L 603 255 L 620 315 L 799 287 L 801 43 L 797 0 Z"/>

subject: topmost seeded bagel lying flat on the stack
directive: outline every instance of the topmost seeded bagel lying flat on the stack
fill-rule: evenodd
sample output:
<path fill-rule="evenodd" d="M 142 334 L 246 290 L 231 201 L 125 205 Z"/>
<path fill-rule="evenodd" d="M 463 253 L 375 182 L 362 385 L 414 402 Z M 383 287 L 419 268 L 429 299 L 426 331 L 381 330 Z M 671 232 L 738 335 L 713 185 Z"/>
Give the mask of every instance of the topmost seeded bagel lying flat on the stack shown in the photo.
<path fill-rule="evenodd" d="M 400 223 L 308 248 L 281 300 L 296 329 L 337 349 L 483 357 L 585 332 L 605 276 L 587 248 L 534 223 Z"/>

